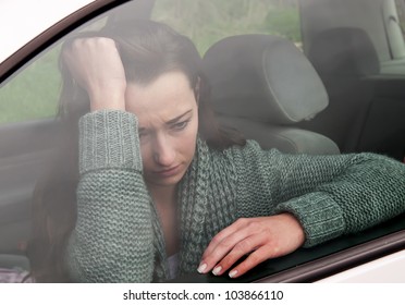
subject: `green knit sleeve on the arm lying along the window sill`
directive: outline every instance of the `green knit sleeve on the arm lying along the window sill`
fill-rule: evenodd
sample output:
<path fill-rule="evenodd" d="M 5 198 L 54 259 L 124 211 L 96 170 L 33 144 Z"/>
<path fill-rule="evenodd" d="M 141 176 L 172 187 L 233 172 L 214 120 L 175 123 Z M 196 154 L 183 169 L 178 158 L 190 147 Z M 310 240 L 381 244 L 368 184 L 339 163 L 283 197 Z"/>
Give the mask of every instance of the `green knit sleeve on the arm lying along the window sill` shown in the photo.
<path fill-rule="evenodd" d="M 312 246 L 405 211 L 405 166 L 381 155 L 284 155 L 248 143 L 236 163 L 243 213 L 291 212 Z"/>

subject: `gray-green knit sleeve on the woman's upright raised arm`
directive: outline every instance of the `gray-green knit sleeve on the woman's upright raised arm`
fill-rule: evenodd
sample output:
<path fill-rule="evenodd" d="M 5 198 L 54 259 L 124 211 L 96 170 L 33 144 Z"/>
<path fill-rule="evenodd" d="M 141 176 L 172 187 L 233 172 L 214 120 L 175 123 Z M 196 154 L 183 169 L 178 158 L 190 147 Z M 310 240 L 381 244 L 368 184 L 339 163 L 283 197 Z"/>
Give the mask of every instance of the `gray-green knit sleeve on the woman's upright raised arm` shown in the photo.
<path fill-rule="evenodd" d="M 101 110 L 79 121 L 77 221 L 68 245 L 79 282 L 150 282 L 151 204 L 135 115 Z"/>

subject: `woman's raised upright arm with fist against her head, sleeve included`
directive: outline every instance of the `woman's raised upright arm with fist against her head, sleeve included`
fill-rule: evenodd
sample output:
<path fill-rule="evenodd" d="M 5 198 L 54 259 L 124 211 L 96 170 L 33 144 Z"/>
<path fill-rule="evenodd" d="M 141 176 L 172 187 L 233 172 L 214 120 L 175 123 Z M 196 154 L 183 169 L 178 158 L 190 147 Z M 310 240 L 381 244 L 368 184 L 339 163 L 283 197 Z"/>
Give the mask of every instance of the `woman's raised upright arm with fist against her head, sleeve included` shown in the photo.
<path fill-rule="evenodd" d="M 63 59 L 90 98 L 79 122 L 77 221 L 68 266 L 81 282 L 150 282 L 151 203 L 142 175 L 135 115 L 125 109 L 125 76 L 114 41 L 75 40 Z"/>

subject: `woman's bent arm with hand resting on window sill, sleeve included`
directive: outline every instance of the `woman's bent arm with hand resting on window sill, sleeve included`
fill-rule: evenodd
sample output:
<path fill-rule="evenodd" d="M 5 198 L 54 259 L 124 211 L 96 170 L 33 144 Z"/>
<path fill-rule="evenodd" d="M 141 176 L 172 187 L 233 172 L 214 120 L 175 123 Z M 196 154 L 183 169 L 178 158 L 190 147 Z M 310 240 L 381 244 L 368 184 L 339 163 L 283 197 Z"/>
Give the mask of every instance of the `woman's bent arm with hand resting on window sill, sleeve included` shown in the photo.
<path fill-rule="evenodd" d="M 202 272 L 222 274 L 248 254 L 229 271 L 238 277 L 303 244 L 357 232 L 405 211 L 405 166 L 383 156 L 283 155 L 254 143 L 230 156 L 245 218 L 214 236 L 202 255 Z"/>

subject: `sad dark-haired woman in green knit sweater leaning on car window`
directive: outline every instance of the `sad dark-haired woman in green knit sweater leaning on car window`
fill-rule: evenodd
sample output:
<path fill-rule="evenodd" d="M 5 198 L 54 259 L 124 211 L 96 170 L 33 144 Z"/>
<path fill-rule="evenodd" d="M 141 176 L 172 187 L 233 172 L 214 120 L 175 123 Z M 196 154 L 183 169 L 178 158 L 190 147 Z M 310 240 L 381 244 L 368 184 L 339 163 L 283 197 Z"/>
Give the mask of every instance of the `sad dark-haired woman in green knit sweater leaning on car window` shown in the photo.
<path fill-rule="evenodd" d="M 79 180 L 75 228 L 48 241 L 63 248 L 69 239 L 73 280 L 150 282 L 196 269 L 236 278 L 405 210 L 400 162 L 265 151 L 218 129 L 206 117 L 198 52 L 169 27 L 137 22 L 91 36 L 62 52 L 64 84 L 77 88 L 62 112 L 76 113 L 75 125 L 89 108 L 79 174 L 68 175 Z M 45 218 L 47 232 L 58 227 Z"/>

